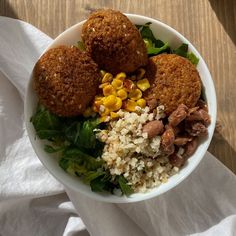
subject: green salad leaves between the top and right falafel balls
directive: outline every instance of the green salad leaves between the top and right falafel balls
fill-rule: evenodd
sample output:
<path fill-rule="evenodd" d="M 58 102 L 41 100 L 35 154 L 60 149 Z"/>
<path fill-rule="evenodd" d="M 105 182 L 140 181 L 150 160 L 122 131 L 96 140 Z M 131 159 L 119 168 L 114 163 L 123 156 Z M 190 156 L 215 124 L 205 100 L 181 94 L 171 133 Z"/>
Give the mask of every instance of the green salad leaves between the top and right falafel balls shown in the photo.
<path fill-rule="evenodd" d="M 174 53 L 189 59 L 194 65 L 198 64 L 199 58 L 197 58 L 192 52 L 188 52 L 188 44 L 183 43 L 177 49 L 172 50 L 168 42 L 164 43 L 160 39 L 155 38 L 150 28 L 151 24 L 151 22 L 148 22 L 144 25 L 136 25 L 146 45 L 149 56 L 161 53 Z"/>

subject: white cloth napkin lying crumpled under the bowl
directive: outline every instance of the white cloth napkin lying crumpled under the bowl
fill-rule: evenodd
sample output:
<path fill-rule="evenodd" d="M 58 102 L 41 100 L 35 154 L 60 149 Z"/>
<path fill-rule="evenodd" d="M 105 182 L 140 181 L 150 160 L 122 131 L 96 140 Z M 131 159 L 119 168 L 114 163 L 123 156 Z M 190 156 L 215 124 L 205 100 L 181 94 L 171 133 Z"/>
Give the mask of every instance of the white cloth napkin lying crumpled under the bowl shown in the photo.
<path fill-rule="evenodd" d="M 74 209 L 38 161 L 23 121 L 29 74 L 51 41 L 0 17 L 0 235 L 236 235 L 236 177 L 210 153 L 175 189 L 144 202 L 96 202 L 66 187 Z"/>

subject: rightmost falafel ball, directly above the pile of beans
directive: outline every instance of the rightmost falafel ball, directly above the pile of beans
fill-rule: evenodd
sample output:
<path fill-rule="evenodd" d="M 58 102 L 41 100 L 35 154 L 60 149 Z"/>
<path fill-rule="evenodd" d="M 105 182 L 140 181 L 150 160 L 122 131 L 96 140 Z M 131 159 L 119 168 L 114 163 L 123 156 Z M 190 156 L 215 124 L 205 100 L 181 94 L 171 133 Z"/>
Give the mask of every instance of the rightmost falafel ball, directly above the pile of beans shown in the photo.
<path fill-rule="evenodd" d="M 180 104 L 194 107 L 201 95 L 201 80 L 195 66 L 186 58 L 175 54 L 151 57 L 146 68 L 150 82 L 144 98 L 147 103 L 156 101 L 165 106 L 169 115 Z"/>

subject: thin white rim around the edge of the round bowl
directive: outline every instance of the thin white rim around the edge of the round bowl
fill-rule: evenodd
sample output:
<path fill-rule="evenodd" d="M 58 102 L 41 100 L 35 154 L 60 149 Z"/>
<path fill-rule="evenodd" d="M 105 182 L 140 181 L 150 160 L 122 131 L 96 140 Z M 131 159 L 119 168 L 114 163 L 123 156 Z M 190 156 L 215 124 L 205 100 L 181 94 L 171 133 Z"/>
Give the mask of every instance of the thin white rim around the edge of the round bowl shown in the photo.
<path fill-rule="evenodd" d="M 182 42 L 186 42 L 189 46 L 191 46 L 191 48 L 193 49 L 195 55 L 197 55 L 197 57 L 200 59 L 200 61 L 203 63 L 203 67 L 206 69 L 206 77 L 207 79 L 209 79 L 209 83 L 210 86 L 212 87 L 212 94 L 211 94 L 211 101 L 213 103 L 213 110 L 212 110 L 212 114 L 211 114 L 211 127 L 212 130 L 211 132 L 209 132 L 208 134 L 208 138 L 205 142 L 207 142 L 207 145 L 204 148 L 204 153 L 202 153 L 202 155 L 195 160 L 195 164 L 190 166 L 189 168 L 187 168 L 184 172 L 184 174 L 182 174 L 181 178 L 177 179 L 177 181 L 175 181 L 172 185 L 167 186 L 164 189 L 161 189 L 158 192 L 146 192 L 146 193 L 141 193 L 138 194 L 137 197 L 126 197 L 126 196 L 122 196 L 122 197 L 118 197 L 118 198 L 113 198 L 113 197 L 104 197 L 102 194 L 97 194 L 92 192 L 88 192 L 85 191 L 84 189 L 80 189 L 79 187 L 74 186 L 72 183 L 65 181 L 63 178 L 60 177 L 60 174 L 57 173 L 56 170 L 52 170 L 51 168 L 49 168 L 44 159 L 41 158 L 41 155 L 39 153 L 38 147 L 37 145 L 34 144 L 33 139 L 34 137 L 29 135 L 30 134 L 30 122 L 29 122 L 29 112 L 28 112 L 28 106 L 27 106 L 27 100 L 29 97 L 29 93 L 31 90 L 31 81 L 32 81 L 32 77 L 33 77 L 33 71 L 32 70 L 31 74 L 30 74 L 30 79 L 27 83 L 27 90 L 26 90 L 26 97 L 25 97 L 25 101 L 24 101 L 24 119 L 25 119 L 25 124 L 26 124 L 26 130 L 27 130 L 27 134 L 29 136 L 30 139 L 30 143 L 34 149 L 34 152 L 36 153 L 38 159 L 42 162 L 42 164 L 44 165 L 44 167 L 50 172 L 51 175 L 53 175 L 60 183 L 62 183 L 63 185 L 65 185 L 67 188 L 72 189 L 73 191 L 75 191 L 76 193 L 82 193 L 85 196 L 88 196 L 90 198 L 93 198 L 95 200 L 99 200 L 102 202 L 109 202 L 109 203 L 131 203 L 131 202 L 139 202 L 139 201 L 143 201 L 143 200 L 147 200 L 147 199 L 151 199 L 153 197 L 157 197 L 160 196 L 161 194 L 170 191 L 171 189 L 175 188 L 177 185 L 179 185 L 184 179 L 186 179 L 198 166 L 198 164 L 200 163 L 200 161 L 203 159 L 204 155 L 207 152 L 208 146 L 210 145 L 210 142 L 212 140 L 212 136 L 213 136 L 213 131 L 215 128 L 215 122 L 216 122 L 216 113 L 217 113 L 217 103 L 216 103 L 216 93 L 215 93 L 215 86 L 211 77 L 211 74 L 209 72 L 209 69 L 205 63 L 205 61 L 203 60 L 203 58 L 201 57 L 200 53 L 196 50 L 196 48 L 193 46 L 193 44 L 187 40 L 182 34 L 180 34 L 177 30 L 175 30 L 174 28 L 170 27 L 169 25 L 161 22 L 160 20 L 156 20 L 150 17 L 146 17 L 146 16 L 142 16 L 142 15 L 137 15 L 137 14 L 126 14 L 125 15 L 132 21 L 132 18 L 139 18 L 141 20 L 144 20 L 146 22 L 152 22 L 155 25 L 160 25 L 161 27 L 167 29 L 167 31 L 171 31 L 172 34 L 176 35 Z M 54 44 L 61 38 L 63 38 L 68 32 L 73 31 L 74 28 L 77 28 L 78 26 L 80 26 L 81 24 L 83 24 L 86 20 L 80 21 L 78 23 L 76 23 L 75 25 L 69 27 L 68 29 L 66 29 L 64 32 L 62 32 L 61 34 L 59 34 L 52 43 L 49 44 L 49 46 L 43 51 L 43 53 L 45 53 L 48 49 L 52 48 L 54 46 Z M 40 55 L 40 57 L 43 55 L 43 53 Z M 209 129 L 208 129 L 209 130 Z M 80 181 L 80 180 L 78 180 Z M 168 184 L 168 183 L 167 183 Z M 154 187 L 155 188 L 159 188 L 159 186 Z M 109 196 L 113 196 L 113 195 L 109 195 Z"/>

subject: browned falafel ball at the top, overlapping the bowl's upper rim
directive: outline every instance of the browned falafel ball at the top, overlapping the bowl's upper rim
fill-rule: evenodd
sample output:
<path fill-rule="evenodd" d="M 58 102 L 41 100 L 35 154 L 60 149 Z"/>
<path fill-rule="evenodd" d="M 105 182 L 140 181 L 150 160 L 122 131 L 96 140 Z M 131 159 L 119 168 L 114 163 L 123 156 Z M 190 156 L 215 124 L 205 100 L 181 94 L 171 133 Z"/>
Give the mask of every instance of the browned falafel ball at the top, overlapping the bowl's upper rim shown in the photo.
<path fill-rule="evenodd" d="M 82 28 L 86 50 L 100 68 L 113 74 L 134 72 L 148 62 L 147 49 L 135 25 L 121 12 L 98 10 Z"/>

